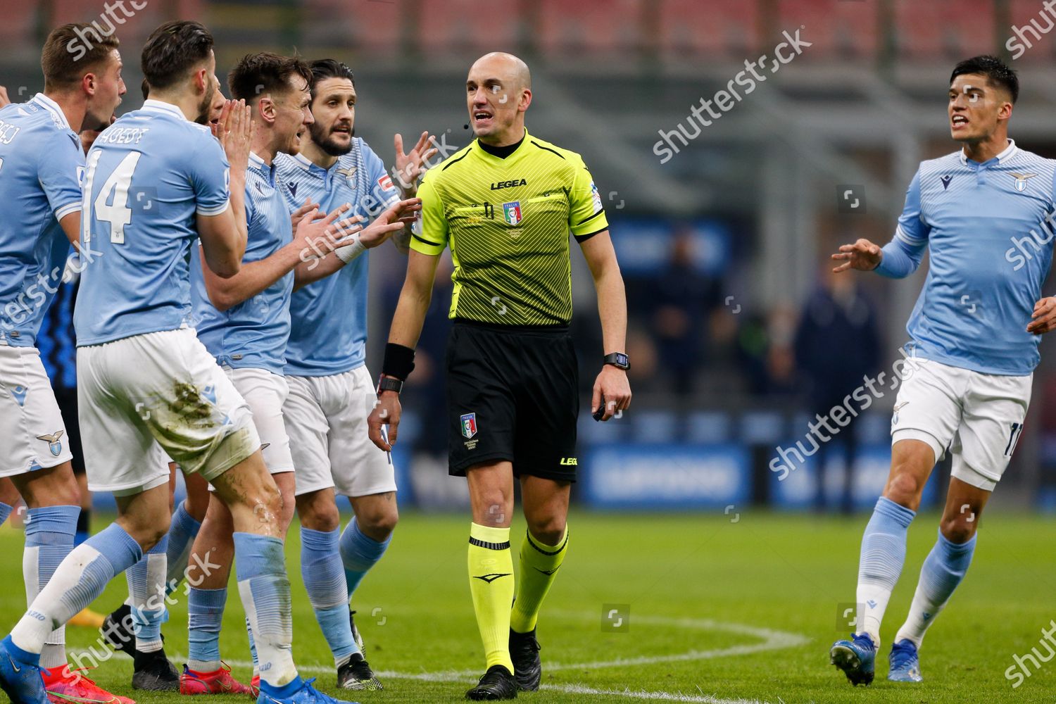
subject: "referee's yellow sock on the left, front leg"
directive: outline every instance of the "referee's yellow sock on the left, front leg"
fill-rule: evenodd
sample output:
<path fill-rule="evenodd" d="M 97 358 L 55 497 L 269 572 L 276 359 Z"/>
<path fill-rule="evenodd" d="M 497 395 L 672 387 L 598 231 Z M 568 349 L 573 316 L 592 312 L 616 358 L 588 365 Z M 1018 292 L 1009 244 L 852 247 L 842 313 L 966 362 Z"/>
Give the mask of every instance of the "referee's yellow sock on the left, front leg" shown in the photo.
<path fill-rule="evenodd" d="M 513 557 L 509 528 L 470 524 L 469 591 L 473 595 L 473 610 L 488 667 L 503 665 L 512 674 L 510 602 L 513 601 Z"/>

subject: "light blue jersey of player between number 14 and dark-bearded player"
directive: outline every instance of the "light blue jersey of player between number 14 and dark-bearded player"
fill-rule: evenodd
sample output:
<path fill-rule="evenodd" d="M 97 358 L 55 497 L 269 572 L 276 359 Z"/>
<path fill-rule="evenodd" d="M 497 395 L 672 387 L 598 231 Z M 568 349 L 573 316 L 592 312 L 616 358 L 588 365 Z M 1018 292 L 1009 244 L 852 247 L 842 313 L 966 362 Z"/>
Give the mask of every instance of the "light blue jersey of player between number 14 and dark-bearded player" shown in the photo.
<path fill-rule="evenodd" d="M 275 164 L 249 155 L 246 170 L 246 222 L 248 236 L 243 263 L 267 259 L 293 239 L 289 208 L 276 183 Z M 242 303 L 218 310 L 209 302 L 202 273 L 202 250 L 191 254 L 191 304 L 199 340 L 216 361 L 231 367 L 253 367 L 282 375 L 289 337 L 290 271 Z"/>

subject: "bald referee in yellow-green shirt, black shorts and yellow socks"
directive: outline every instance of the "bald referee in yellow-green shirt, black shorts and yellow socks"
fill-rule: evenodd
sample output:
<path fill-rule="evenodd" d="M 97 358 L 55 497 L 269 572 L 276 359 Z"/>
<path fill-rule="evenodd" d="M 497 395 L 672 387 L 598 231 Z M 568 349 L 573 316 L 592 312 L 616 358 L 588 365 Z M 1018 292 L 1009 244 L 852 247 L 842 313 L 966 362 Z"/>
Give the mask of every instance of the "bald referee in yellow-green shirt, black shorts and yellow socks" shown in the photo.
<path fill-rule="evenodd" d="M 487 54 L 470 68 L 466 102 L 476 139 L 421 183 L 421 229 L 411 241 L 369 421 L 371 439 L 390 450 L 436 263 L 450 247 L 449 462 L 452 475 L 469 481 L 469 583 L 487 655 L 487 672 L 466 695 L 473 700 L 539 688 L 535 621 L 568 550 L 580 405 L 568 332 L 569 230 L 593 275 L 604 338 L 591 413 L 608 420 L 630 403 L 626 298 L 601 197 L 579 154 L 525 130 L 531 97 L 528 66 L 515 56 Z M 514 477 L 528 524 L 515 601 Z"/>

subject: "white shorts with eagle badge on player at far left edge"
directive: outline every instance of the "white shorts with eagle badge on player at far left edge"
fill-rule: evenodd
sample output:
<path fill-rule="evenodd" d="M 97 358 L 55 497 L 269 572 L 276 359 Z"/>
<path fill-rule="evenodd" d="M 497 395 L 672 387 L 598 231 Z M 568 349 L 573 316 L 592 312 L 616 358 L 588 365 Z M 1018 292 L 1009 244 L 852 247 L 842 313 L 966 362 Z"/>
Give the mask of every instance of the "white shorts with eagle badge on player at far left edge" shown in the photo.
<path fill-rule="evenodd" d="M 72 458 L 40 351 L 0 342 L 0 477 L 48 469 Z"/>

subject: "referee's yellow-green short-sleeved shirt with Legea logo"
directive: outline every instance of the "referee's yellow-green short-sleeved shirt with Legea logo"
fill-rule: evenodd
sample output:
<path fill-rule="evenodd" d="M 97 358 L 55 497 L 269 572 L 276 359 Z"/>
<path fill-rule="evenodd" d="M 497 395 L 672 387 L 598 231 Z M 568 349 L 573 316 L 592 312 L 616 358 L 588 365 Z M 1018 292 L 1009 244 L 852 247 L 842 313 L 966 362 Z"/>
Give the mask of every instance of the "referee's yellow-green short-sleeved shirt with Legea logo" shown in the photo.
<path fill-rule="evenodd" d="M 576 152 L 525 132 L 505 159 L 477 140 L 426 173 L 411 248 L 451 247 L 451 318 L 497 325 L 567 325 L 568 233 L 608 229 L 601 196 Z M 420 230 L 420 231 L 419 231 Z"/>

